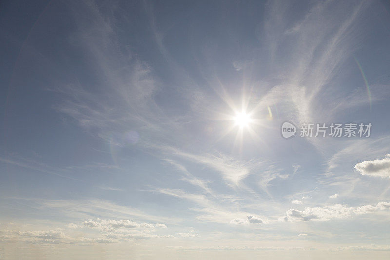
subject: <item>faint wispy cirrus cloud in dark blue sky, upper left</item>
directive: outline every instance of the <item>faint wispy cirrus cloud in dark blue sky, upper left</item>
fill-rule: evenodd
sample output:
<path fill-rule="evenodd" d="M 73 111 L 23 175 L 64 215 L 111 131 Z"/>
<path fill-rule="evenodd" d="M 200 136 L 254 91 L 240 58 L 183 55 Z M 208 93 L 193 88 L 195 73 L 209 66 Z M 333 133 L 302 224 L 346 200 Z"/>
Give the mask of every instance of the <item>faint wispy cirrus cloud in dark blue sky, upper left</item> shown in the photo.
<path fill-rule="evenodd" d="M 140 142 L 137 129 L 153 132 L 157 136 L 172 134 L 178 125 L 175 117 L 168 117 L 154 100 L 160 84 L 153 69 L 142 60 L 132 59 L 128 48 L 121 48 L 116 24 L 94 4 L 80 5 L 83 10 L 74 13 L 78 30 L 72 34 L 73 42 L 86 50 L 91 69 L 97 74 L 98 85 L 104 95 L 97 95 L 78 80 L 51 90 L 66 98 L 56 109 L 75 119 L 94 136 L 114 146 L 127 146 Z M 94 23 L 88 17 L 92 16 Z M 133 133 L 130 138 L 129 125 Z M 161 127 L 164 125 L 164 127 Z M 170 127 L 166 127 L 169 125 Z M 146 136 L 146 135 L 144 135 Z"/>

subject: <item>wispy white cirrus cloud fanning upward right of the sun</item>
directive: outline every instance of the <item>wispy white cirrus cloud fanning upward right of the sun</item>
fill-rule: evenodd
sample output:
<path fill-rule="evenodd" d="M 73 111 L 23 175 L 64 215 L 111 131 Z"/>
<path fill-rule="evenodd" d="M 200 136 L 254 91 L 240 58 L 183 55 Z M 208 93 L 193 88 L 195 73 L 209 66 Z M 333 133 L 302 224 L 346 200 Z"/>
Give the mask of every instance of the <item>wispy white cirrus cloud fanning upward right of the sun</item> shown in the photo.
<path fill-rule="evenodd" d="M 322 105 L 324 99 L 318 94 L 337 73 L 337 69 L 351 54 L 351 46 L 354 38 L 355 22 L 360 18 L 359 14 L 367 4 L 363 2 L 350 6 L 348 14 L 339 17 L 335 13 L 329 13 L 329 6 L 334 3 L 318 2 L 301 21 L 294 22 L 287 28 L 286 16 L 280 4 L 271 5 L 268 12 L 269 19 L 265 23 L 266 38 L 270 42 L 270 54 L 278 59 L 278 50 L 283 48 L 281 42 L 285 37 L 294 35 L 299 39 L 310 39 L 304 44 L 296 44 L 292 47 L 292 53 L 297 53 L 292 60 L 285 60 L 284 68 L 280 68 L 279 74 L 285 80 L 273 87 L 259 102 L 259 107 L 287 101 L 291 104 L 290 110 L 293 122 L 313 121 L 314 117 L 330 118 L 339 111 L 338 109 L 315 109 Z M 321 28 L 321 29 L 319 29 Z M 324 44 L 324 40 L 326 44 Z M 351 41 L 349 40 L 351 39 Z M 305 55 L 298 55 L 305 53 Z M 361 93 L 363 96 L 363 93 Z M 360 100 L 364 100 L 361 98 Z M 341 101 L 337 100 L 336 103 Z M 361 102 L 361 101 L 359 101 Z M 366 102 L 367 103 L 367 102 Z M 310 140 L 320 148 L 322 140 Z"/>

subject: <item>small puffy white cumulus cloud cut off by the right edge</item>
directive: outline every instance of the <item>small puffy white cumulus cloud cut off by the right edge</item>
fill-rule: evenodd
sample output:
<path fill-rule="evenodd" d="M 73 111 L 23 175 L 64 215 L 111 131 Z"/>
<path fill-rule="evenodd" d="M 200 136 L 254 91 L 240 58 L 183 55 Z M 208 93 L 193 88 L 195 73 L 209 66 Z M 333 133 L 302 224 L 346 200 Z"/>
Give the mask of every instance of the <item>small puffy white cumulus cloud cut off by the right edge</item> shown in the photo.
<path fill-rule="evenodd" d="M 361 175 L 390 178 L 390 158 L 367 160 L 355 165 Z"/>

